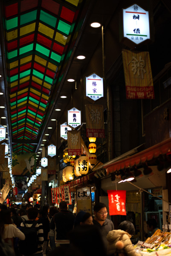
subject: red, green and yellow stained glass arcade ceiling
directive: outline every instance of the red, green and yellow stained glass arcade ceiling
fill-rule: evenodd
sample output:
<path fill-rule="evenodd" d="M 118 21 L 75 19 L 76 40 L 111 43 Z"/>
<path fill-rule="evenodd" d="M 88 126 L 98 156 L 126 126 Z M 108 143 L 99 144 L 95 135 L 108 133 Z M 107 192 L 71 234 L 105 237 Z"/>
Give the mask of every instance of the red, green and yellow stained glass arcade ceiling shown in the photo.
<path fill-rule="evenodd" d="M 12 139 L 18 142 L 13 143 L 13 151 L 35 151 L 32 141 L 39 140 L 54 88 L 62 79 L 60 70 L 68 56 L 78 2 L 4 1 Z"/>

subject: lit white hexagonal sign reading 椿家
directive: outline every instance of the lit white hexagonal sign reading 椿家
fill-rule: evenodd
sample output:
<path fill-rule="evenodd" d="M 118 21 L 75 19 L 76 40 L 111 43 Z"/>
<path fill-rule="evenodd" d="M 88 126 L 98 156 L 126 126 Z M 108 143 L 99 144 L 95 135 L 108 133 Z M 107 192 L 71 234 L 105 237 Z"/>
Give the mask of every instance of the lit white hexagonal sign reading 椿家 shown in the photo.
<path fill-rule="evenodd" d="M 103 97 L 103 78 L 93 73 L 86 76 L 86 96 L 97 100 Z"/>

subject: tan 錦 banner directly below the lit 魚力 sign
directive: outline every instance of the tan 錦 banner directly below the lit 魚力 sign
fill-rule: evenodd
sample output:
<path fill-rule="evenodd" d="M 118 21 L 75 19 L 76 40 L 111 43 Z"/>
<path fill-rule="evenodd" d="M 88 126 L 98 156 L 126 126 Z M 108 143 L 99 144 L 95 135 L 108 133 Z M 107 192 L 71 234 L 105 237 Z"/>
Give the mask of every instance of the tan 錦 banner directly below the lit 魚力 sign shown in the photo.
<path fill-rule="evenodd" d="M 80 131 L 68 131 L 68 155 L 81 155 L 81 134 Z"/>

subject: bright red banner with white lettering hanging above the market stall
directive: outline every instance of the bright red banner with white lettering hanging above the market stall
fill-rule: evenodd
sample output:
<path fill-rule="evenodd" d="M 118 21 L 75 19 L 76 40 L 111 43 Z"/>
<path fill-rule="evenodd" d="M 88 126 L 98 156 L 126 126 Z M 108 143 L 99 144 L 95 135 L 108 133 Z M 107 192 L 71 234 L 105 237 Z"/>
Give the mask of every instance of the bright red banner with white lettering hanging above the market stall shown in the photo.
<path fill-rule="evenodd" d="M 125 209 L 126 190 L 107 190 L 110 215 L 127 215 Z"/>

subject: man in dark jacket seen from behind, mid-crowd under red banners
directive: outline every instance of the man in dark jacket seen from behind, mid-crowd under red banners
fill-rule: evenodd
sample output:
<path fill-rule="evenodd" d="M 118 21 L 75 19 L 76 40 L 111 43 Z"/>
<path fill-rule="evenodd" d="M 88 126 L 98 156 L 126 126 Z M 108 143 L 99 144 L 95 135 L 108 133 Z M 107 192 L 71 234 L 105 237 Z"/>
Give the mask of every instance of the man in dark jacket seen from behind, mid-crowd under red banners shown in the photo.
<path fill-rule="evenodd" d="M 67 203 L 61 201 L 59 203 L 60 212 L 55 213 L 50 223 L 50 229 L 56 231 L 56 244 L 69 244 L 68 232 L 72 230 L 75 216 L 67 210 Z"/>

